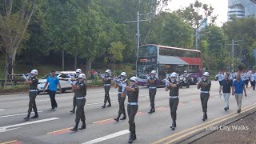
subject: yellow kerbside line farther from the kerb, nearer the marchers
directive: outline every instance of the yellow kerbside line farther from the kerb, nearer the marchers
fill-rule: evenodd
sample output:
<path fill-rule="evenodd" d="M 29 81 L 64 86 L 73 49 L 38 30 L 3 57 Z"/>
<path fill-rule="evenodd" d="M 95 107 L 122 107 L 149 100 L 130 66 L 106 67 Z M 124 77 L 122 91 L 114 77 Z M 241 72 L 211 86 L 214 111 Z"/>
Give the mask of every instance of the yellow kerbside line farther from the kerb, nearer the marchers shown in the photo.
<path fill-rule="evenodd" d="M 256 105 L 256 103 L 254 103 L 254 104 L 252 104 L 252 105 L 250 105 L 250 106 L 254 106 L 254 105 Z M 242 110 L 245 110 L 246 108 L 248 108 L 248 107 L 250 107 L 250 106 L 246 106 L 246 107 L 244 107 Z M 231 114 L 226 114 L 226 115 L 224 115 L 224 116 L 222 116 L 222 117 L 219 117 L 219 118 L 215 118 L 215 119 L 213 119 L 213 120 L 210 120 L 209 122 L 204 122 L 204 123 L 202 123 L 202 124 L 200 124 L 200 125 L 198 125 L 198 126 L 194 126 L 194 127 L 189 128 L 189 129 L 180 131 L 180 132 L 178 132 L 178 133 L 176 133 L 176 134 L 172 134 L 172 135 L 170 135 L 170 136 L 168 136 L 168 137 L 166 137 L 166 138 L 162 138 L 162 139 L 158 140 L 157 142 L 154 142 L 153 144 L 157 144 L 157 143 L 166 141 L 167 139 L 173 138 L 173 137 L 177 136 L 178 134 L 186 133 L 187 131 L 190 131 L 190 130 L 193 130 L 193 129 L 198 128 L 198 127 L 200 127 L 200 126 L 206 125 L 206 124 L 208 124 L 208 123 L 210 123 L 210 122 L 217 121 L 218 119 L 225 118 L 225 117 L 229 117 L 230 115 L 236 114 L 236 113 L 237 113 L 237 112 L 233 112 L 233 113 L 231 113 Z"/>

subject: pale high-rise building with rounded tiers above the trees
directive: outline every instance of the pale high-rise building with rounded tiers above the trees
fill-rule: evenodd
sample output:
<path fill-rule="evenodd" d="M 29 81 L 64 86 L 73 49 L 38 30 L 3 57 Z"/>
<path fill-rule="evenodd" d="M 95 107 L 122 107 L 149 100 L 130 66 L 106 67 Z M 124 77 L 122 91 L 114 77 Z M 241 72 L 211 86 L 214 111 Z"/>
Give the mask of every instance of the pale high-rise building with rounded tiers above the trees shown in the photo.
<path fill-rule="evenodd" d="M 237 18 L 256 15 L 256 0 L 228 0 L 229 10 L 227 20 L 230 21 L 230 16 L 235 15 Z"/>

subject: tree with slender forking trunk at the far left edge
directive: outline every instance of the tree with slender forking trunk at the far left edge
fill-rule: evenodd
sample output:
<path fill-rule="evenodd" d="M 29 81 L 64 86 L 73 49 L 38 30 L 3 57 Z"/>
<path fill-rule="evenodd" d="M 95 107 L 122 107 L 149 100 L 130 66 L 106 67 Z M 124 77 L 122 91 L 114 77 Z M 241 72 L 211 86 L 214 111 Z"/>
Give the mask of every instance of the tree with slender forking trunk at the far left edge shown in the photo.
<path fill-rule="evenodd" d="M 14 72 L 18 47 L 26 39 L 26 28 L 34 14 L 36 0 L 0 1 L 0 36 L 6 53 L 6 77 Z M 6 86 L 6 82 L 5 82 Z"/>

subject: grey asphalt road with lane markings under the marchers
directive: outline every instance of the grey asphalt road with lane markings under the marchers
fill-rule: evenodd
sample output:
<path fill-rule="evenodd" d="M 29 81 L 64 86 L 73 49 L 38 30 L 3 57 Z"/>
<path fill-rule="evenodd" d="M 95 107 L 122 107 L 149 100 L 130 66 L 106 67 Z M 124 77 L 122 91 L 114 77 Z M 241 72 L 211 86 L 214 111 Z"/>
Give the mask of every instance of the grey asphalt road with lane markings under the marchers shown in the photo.
<path fill-rule="evenodd" d="M 179 139 L 190 131 L 202 128 L 210 122 L 234 116 L 237 105 L 230 96 L 230 110 L 225 112 L 224 100 L 218 95 L 218 82 L 212 82 L 208 102 L 208 120 L 202 122 L 202 106 L 196 86 L 179 90 L 177 129 L 170 130 L 171 118 L 169 93 L 158 88 L 155 98 L 156 112 L 147 114 L 150 109 L 148 89 L 140 87 L 138 114 L 135 117 L 137 140 L 134 143 L 163 143 Z M 243 97 L 242 108 L 250 108 L 256 101 L 256 92 L 248 88 L 248 97 Z M 0 143 L 127 143 L 129 137 L 128 119 L 114 122 L 118 112 L 117 90 L 111 87 L 112 106 L 102 109 L 104 90 L 87 90 L 85 106 L 86 130 L 71 132 L 75 114 L 72 108 L 72 93 L 56 94 L 58 110 L 50 111 L 50 98 L 39 94 L 36 98 L 39 118 L 24 122 L 28 108 L 28 94 L 0 95 Z M 127 103 L 127 98 L 126 98 Z M 254 105 L 255 106 L 255 105 Z M 246 109 L 242 109 L 243 110 Z M 31 114 L 33 116 L 34 114 Z M 81 126 L 81 123 L 80 123 Z"/>

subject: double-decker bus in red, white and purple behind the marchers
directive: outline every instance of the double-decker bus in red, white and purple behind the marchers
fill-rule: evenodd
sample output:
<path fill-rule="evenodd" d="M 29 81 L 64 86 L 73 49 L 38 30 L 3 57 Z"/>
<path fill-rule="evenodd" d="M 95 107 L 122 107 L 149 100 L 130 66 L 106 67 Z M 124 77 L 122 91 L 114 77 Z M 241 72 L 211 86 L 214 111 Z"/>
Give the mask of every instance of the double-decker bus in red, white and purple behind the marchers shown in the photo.
<path fill-rule="evenodd" d="M 139 86 L 146 86 L 146 75 L 150 74 L 151 70 L 157 71 L 156 77 L 159 80 L 172 72 L 181 75 L 184 70 L 194 79 L 194 83 L 198 77 L 202 77 L 202 58 L 199 50 L 147 44 L 139 47 L 136 65 Z M 164 83 L 158 81 L 158 86 L 160 85 Z"/>

